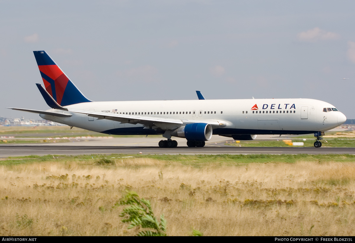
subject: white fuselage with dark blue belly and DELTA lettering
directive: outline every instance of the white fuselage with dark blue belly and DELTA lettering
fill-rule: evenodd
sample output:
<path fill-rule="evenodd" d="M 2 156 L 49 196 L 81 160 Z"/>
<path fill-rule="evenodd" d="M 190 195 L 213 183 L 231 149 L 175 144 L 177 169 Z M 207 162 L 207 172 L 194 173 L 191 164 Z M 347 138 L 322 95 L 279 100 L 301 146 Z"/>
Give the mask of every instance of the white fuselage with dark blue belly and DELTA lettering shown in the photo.
<path fill-rule="evenodd" d="M 90 112 L 179 119 L 183 124 L 148 126 L 100 119 L 87 114 L 71 117 L 40 116 L 44 119 L 107 134 L 164 134 L 188 123 L 210 123 L 213 134 L 307 134 L 327 131 L 345 122 L 346 117 L 327 102 L 313 99 L 248 100 L 165 100 L 86 102 L 65 106 Z M 324 112 L 324 108 L 333 108 Z M 335 110 L 335 111 L 334 111 Z"/>

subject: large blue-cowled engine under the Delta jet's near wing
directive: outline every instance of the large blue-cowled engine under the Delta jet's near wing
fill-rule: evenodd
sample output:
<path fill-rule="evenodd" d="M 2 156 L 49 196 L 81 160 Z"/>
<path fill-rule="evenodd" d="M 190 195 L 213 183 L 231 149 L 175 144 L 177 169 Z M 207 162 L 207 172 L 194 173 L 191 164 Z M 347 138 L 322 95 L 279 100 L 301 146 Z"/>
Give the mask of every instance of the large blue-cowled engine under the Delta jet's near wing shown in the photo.
<path fill-rule="evenodd" d="M 189 141 L 208 141 L 212 137 L 212 126 L 207 123 L 190 123 L 176 129 L 171 135 L 185 137 Z"/>

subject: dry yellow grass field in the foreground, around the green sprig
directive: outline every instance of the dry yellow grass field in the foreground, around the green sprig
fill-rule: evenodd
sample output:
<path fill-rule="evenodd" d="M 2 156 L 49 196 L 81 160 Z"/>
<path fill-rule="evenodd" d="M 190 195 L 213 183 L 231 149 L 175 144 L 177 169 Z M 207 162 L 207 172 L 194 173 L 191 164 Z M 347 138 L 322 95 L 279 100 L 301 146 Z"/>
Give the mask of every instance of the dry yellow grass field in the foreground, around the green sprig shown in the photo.
<path fill-rule="evenodd" d="M 125 190 L 151 200 L 170 236 L 348 236 L 355 165 L 298 162 L 193 168 L 149 158 L 115 165 L 46 162 L 0 167 L 2 236 L 126 236 Z M 160 176 L 159 176 L 160 175 Z M 26 217 L 27 216 L 27 217 Z M 31 221 L 32 220 L 32 221 Z"/>

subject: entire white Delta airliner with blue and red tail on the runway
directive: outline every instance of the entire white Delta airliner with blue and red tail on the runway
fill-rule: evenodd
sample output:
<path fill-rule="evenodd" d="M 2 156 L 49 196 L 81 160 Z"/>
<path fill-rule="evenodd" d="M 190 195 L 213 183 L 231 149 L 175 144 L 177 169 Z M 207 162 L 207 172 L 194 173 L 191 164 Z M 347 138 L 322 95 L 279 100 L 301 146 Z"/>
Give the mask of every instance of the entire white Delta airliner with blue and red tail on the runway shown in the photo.
<path fill-rule="evenodd" d="M 44 83 L 36 84 L 51 109 L 43 119 L 112 135 L 162 135 L 161 148 L 174 148 L 171 137 L 203 147 L 212 134 L 253 140 L 257 134 L 311 134 L 322 146 L 325 131 L 346 117 L 332 104 L 307 98 L 239 100 L 99 101 L 85 97 L 45 51 L 33 51 Z M 197 93 L 198 94 L 198 93 Z M 201 94 L 201 92 L 200 92 Z"/>

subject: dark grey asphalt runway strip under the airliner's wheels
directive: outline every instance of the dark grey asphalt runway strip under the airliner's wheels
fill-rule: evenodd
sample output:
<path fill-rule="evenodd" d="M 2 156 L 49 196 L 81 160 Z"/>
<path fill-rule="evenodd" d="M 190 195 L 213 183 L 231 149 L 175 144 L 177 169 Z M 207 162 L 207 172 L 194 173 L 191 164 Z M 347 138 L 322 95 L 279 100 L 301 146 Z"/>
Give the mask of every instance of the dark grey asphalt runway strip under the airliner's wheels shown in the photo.
<path fill-rule="evenodd" d="M 0 158 L 29 155 L 80 155 L 80 154 L 355 154 L 355 148 L 314 147 L 177 147 L 158 146 L 48 146 L 48 145 L 1 145 Z"/>

